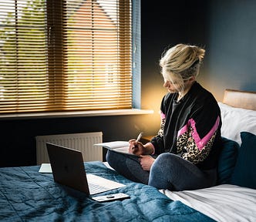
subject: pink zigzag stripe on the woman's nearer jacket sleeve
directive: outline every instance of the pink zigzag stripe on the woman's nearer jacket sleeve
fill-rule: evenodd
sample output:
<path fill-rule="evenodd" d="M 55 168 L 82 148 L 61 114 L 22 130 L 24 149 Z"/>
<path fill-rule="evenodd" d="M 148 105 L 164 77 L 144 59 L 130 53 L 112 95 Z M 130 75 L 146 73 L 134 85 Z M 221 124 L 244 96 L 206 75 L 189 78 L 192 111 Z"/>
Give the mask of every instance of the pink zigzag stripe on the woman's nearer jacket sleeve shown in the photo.
<path fill-rule="evenodd" d="M 207 133 L 207 135 L 205 135 L 204 138 L 201 139 L 199 134 L 197 133 L 196 122 L 194 121 L 194 119 L 189 119 L 187 125 L 185 125 L 179 130 L 177 136 L 179 137 L 181 134 L 186 133 L 188 130 L 188 127 L 191 126 L 193 128 L 192 136 L 194 138 L 194 141 L 197 143 L 197 148 L 199 150 L 202 150 L 204 146 L 208 143 L 208 141 L 211 140 L 211 137 L 216 132 L 217 127 L 219 126 L 219 123 L 220 123 L 220 117 L 217 116 L 214 126 L 211 128 L 209 133 Z"/>

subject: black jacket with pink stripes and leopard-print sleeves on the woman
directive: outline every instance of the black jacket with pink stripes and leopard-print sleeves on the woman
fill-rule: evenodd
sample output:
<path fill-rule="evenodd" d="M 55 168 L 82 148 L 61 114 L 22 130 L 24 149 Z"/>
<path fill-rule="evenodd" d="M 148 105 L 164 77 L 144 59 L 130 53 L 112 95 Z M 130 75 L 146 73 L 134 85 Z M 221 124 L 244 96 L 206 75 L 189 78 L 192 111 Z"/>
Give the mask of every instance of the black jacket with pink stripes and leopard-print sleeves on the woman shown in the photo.
<path fill-rule="evenodd" d="M 167 93 L 161 103 L 162 123 L 151 143 L 155 153 L 175 153 L 202 170 L 217 167 L 221 150 L 221 111 L 214 96 L 198 82 L 177 102 Z"/>

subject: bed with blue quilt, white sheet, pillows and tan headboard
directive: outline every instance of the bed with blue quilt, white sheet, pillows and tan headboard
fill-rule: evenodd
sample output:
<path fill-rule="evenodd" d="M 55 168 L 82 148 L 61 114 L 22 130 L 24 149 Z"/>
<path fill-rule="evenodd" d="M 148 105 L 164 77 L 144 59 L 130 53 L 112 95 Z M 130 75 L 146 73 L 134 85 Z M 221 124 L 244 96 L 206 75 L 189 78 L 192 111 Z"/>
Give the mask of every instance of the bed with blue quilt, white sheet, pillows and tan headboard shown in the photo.
<path fill-rule="evenodd" d="M 249 99 L 244 99 L 245 94 L 250 95 L 246 97 Z M 241 102 L 237 103 L 237 98 Z M 234 107 L 237 105 L 229 103 L 231 100 L 240 107 Z M 246 109 L 244 102 L 250 109 Z M 5 167 L 0 168 L 0 221 L 255 221 L 255 102 L 256 93 L 226 90 L 223 103 L 219 103 L 224 145 L 215 187 L 181 192 L 157 190 L 127 180 L 106 163 L 86 162 L 87 173 L 126 185 L 103 194 L 120 192 L 130 196 L 99 203 L 84 193 L 54 183 L 51 173 L 39 173 L 40 166 Z M 244 149 L 247 146 L 248 150 Z M 245 169 L 245 163 L 248 172 L 244 173 L 241 168 Z"/>

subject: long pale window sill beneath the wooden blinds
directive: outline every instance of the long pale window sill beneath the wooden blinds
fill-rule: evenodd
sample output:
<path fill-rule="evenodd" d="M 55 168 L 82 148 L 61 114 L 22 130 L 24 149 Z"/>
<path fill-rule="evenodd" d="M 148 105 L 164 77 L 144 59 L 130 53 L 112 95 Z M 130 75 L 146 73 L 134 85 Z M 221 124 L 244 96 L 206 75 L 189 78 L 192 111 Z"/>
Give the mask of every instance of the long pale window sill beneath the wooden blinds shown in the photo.
<path fill-rule="evenodd" d="M 91 117 L 91 116 L 125 116 L 153 114 L 150 109 L 110 109 L 95 111 L 76 112 L 56 112 L 56 113 L 24 113 L 24 114 L 4 114 L 0 115 L 1 120 L 5 119 L 46 119 L 46 118 L 66 118 L 66 117 Z"/>

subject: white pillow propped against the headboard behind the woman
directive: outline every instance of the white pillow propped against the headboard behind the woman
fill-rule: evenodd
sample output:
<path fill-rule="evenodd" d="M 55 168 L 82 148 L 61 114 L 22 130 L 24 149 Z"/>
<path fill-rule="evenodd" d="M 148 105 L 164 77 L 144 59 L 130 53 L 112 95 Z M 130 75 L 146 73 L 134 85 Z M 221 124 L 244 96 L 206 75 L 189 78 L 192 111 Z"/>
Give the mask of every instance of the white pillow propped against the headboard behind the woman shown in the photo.
<path fill-rule="evenodd" d="M 221 136 L 234 140 L 241 145 L 241 132 L 256 134 L 256 111 L 235 108 L 224 103 L 218 103 L 221 109 Z"/>

